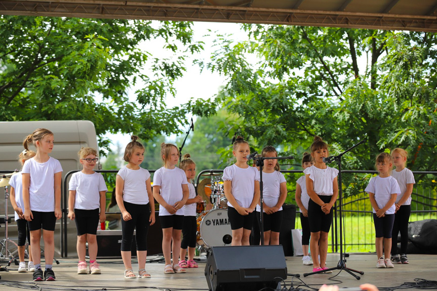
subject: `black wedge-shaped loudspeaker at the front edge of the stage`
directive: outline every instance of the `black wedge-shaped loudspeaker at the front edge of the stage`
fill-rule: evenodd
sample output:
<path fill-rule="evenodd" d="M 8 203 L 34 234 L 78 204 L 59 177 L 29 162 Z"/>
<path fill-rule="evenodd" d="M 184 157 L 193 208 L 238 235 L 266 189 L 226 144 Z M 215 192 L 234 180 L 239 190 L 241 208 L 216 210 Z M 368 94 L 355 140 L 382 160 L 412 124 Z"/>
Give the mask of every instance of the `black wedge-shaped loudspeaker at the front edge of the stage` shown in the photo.
<path fill-rule="evenodd" d="M 210 291 L 276 289 L 287 279 L 281 245 L 213 246 L 205 267 Z"/>

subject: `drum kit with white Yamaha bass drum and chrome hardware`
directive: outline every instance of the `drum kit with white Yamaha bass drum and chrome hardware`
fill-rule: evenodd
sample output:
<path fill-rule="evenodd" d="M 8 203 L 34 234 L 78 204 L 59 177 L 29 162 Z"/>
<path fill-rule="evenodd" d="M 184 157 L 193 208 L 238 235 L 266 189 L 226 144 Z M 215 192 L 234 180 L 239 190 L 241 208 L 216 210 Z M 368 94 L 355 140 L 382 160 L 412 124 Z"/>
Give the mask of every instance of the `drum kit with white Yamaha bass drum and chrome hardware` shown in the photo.
<path fill-rule="evenodd" d="M 227 199 L 224 195 L 222 175 L 211 176 L 197 185 L 197 192 L 204 202 L 197 203 L 197 245 L 200 251 L 208 251 L 212 246 L 224 246 L 232 241 L 232 230 L 227 215 Z"/>

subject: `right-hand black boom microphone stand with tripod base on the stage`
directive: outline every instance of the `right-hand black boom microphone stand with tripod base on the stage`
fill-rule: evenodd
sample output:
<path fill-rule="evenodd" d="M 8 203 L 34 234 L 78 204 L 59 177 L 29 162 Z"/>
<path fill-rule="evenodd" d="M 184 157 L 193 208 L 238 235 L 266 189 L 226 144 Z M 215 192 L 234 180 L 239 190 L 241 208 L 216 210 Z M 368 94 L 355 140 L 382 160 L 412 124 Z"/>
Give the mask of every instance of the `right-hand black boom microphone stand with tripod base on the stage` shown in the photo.
<path fill-rule="evenodd" d="M 338 261 L 337 267 L 333 267 L 333 268 L 329 268 L 326 270 L 322 270 L 322 271 L 317 271 L 317 272 L 311 272 L 311 273 L 304 273 L 303 276 L 306 277 L 308 275 L 312 275 L 312 274 L 319 274 L 319 273 L 324 273 L 326 271 L 333 271 L 333 270 L 345 270 L 347 273 L 349 273 L 350 275 L 352 275 L 353 277 L 355 277 L 355 279 L 360 280 L 361 277 L 355 275 L 352 272 L 355 273 L 359 273 L 361 275 L 364 275 L 363 271 L 357 271 L 354 269 L 350 269 L 346 267 L 346 260 L 344 259 L 344 254 L 343 254 L 343 217 L 342 217 L 342 213 L 343 213 L 343 191 L 342 191 L 342 184 L 341 184 L 341 157 L 347 153 L 348 151 L 350 151 L 351 149 L 353 149 L 354 147 L 359 146 L 360 144 L 364 143 L 364 140 L 353 145 L 352 147 L 350 147 L 349 149 L 345 150 L 344 152 L 342 152 L 341 154 L 337 155 L 337 156 L 330 156 L 330 157 L 326 157 L 323 158 L 323 161 L 325 163 L 331 163 L 332 161 L 337 161 L 338 164 L 338 183 L 340 185 L 339 187 L 339 207 L 338 207 L 338 211 L 339 211 L 339 218 L 340 218 L 340 261 Z"/>

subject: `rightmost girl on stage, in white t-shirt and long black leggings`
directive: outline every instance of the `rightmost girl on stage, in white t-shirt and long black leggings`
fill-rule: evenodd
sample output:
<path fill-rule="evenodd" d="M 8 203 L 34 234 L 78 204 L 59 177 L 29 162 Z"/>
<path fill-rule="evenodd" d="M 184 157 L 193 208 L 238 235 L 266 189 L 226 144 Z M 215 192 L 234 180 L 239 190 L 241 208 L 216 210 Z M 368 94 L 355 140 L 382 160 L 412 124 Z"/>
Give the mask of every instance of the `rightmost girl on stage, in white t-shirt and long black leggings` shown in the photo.
<path fill-rule="evenodd" d="M 394 206 L 393 231 L 391 232 L 391 261 L 395 264 L 408 264 L 408 221 L 411 214 L 411 193 L 413 193 L 414 180 L 413 172 L 406 168 L 408 153 L 402 148 L 395 148 L 391 151 L 393 164 L 396 167 L 391 171 L 391 176 L 398 181 L 401 193 L 396 197 Z M 398 234 L 401 232 L 401 258 L 398 256 Z"/>

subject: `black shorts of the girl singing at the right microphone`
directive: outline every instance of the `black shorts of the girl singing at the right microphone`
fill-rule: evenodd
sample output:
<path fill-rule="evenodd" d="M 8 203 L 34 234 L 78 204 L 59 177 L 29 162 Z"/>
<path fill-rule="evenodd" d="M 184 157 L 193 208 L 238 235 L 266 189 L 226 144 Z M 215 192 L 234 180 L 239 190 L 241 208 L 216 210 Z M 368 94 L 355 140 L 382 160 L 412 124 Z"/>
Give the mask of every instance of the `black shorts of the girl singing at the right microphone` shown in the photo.
<path fill-rule="evenodd" d="M 332 196 L 326 195 L 318 195 L 323 202 L 329 203 L 331 201 Z M 334 206 L 331 208 L 329 214 L 325 214 L 322 211 L 322 206 L 315 203 L 311 199 L 308 202 L 308 222 L 309 222 L 309 230 L 311 232 L 329 232 L 332 224 L 332 216 L 334 213 Z"/>

